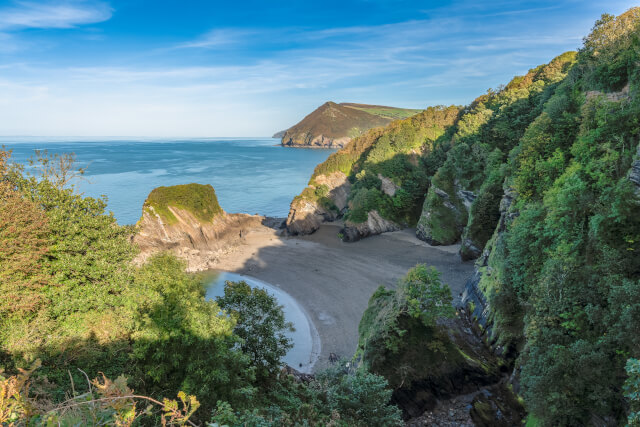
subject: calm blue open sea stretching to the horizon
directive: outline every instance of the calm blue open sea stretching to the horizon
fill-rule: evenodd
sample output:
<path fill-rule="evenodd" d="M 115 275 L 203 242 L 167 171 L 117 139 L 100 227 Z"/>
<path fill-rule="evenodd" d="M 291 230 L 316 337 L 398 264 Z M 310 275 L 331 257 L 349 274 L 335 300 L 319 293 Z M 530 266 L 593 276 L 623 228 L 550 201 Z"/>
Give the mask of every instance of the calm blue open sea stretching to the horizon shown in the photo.
<path fill-rule="evenodd" d="M 79 189 L 106 195 L 118 223 L 134 224 L 149 192 L 158 186 L 211 184 L 222 208 L 232 213 L 285 217 L 293 197 L 306 186 L 315 166 L 334 150 L 293 149 L 273 138 L 144 140 L 119 138 L 0 138 L 25 162 L 34 149 L 76 154 L 87 166 Z"/>

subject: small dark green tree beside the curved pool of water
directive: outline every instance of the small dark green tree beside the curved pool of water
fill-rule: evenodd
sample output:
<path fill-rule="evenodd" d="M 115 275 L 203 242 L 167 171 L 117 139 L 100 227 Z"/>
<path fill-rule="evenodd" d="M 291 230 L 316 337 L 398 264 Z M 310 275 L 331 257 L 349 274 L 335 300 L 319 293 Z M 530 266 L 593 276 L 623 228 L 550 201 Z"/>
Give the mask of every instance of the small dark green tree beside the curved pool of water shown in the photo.
<path fill-rule="evenodd" d="M 252 289 L 246 282 L 226 282 L 224 296 L 216 301 L 237 322 L 234 334 L 242 340 L 240 348 L 251 358 L 258 379 L 266 381 L 276 374 L 280 360 L 293 347 L 285 335 L 293 331 L 293 325 L 285 321 L 275 297 L 264 289 Z"/>

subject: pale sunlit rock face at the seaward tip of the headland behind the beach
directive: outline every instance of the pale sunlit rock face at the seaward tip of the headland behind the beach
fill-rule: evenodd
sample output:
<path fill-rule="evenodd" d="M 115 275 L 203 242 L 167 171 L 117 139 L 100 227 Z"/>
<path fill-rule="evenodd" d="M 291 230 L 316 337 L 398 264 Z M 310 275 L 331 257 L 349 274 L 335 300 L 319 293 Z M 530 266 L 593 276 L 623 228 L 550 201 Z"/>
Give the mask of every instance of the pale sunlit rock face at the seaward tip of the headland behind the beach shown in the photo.
<path fill-rule="evenodd" d="M 342 172 L 319 175 L 291 202 L 286 227 L 289 234 L 311 234 L 325 221 L 334 221 L 347 207 L 351 183 Z M 315 196 L 320 191 L 324 196 Z M 313 194 L 314 197 L 305 197 Z"/>

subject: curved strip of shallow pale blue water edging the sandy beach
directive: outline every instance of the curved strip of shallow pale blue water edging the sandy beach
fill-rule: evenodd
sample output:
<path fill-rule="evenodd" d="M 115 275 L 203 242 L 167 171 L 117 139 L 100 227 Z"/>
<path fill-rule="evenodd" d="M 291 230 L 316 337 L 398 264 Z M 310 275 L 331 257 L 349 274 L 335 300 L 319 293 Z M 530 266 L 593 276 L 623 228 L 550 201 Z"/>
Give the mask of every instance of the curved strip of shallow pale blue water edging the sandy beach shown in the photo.
<path fill-rule="evenodd" d="M 315 326 L 296 300 L 274 285 L 241 274 L 225 271 L 211 272 L 206 284 L 206 298 L 214 300 L 224 295 L 226 281 L 245 281 L 251 288 L 261 288 L 275 297 L 283 307 L 287 321 L 293 323 L 294 332 L 288 332 L 293 340 L 293 348 L 284 356 L 283 362 L 303 373 L 311 373 L 320 354 L 320 338 Z"/>

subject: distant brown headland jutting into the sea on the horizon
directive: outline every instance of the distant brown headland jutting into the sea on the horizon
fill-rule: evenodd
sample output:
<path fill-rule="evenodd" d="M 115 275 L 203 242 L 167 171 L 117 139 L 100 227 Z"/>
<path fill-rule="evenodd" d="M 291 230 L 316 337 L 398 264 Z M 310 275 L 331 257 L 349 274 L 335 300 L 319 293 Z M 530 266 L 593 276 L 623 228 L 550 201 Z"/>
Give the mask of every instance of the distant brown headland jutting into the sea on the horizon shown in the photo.
<path fill-rule="evenodd" d="M 385 126 L 394 115 L 407 117 L 419 110 L 363 104 L 326 102 L 284 131 L 282 145 L 289 147 L 342 148 L 371 128 Z M 277 134 L 276 134 L 277 135 Z"/>

